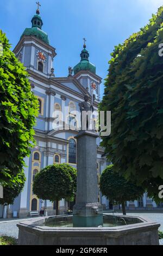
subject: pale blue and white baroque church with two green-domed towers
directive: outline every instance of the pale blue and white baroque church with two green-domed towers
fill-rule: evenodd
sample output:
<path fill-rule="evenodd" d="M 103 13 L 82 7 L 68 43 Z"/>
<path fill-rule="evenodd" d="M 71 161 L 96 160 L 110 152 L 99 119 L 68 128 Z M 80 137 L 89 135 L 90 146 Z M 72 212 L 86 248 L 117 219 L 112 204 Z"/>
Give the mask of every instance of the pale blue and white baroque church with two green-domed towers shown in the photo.
<path fill-rule="evenodd" d="M 26 157 L 26 184 L 23 192 L 15 199 L 13 205 L 0 205 L 1 217 L 27 217 L 31 212 L 39 212 L 41 207 L 47 209 L 48 215 L 55 215 L 55 205 L 50 201 L 38 199 L 33 194 L 34 177 L 47 165 L 68 163 L 77 166 L 77 141 L 74 138 L 80 129 L 80 103 L 85 94 L 89 94 L 90 103 L 93 97 L 93 108 L 98 109 L 102 78 L 96 74 L 96 67 L 89 61 L 89 52 L 84 42 L 80 62 L 68 68 L 68 76 L 55 78 L 53 61 L 55 48 L 49 44 L 48 35 L 42 30 L 40 10 L 32 19 L 32 27 L 26 28 L 14 49 L 16 57 L 24 64 L 29 74 L 32 91 L 39 100 L 39 116 L 36 118 L 35 140 L 30 157 Z M 92 95 L 92 83 L 96 91 Z M 97 138 L 97 176 L 109 163 L 104 149 L 99 146 Z M 99 203 L 104 209 L 112 209 L 112 204 L 99 192 Z M 126 203 L 129 210 L 158 210 L 163 205 L 156 205 L 146 194 L 134 202 Z M 60 201 L 60 213 L 68 209 L 65 200 Z M 115 210 L 120 206 L 115 206 Z"/>

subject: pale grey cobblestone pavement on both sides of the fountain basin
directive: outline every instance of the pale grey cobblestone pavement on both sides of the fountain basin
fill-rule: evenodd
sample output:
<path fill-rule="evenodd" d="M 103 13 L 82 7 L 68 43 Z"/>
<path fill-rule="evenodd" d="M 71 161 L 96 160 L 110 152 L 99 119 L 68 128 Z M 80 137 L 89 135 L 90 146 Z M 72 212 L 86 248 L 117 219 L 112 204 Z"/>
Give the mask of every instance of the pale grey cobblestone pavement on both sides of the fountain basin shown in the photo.
<path fill-rule="evenodd" d="M 122 214 L 122 213 L 121 213 Z M 127 215 L 130 216 L 139 216 L 145 219 L 151 219 L 151 221 L 155 221 L 161 224 L 160 230 L 163 231 L 163 213 L 142 213 L 142 212 L 128 212 Z M 16 220 L 5 220 L 0 219 L 0 236 L 1 235 L 8 235 L 13 236 L 16 239 L 18 238 L 18 228 L 16 227 L 16 224 L 21 221 L 27 221 L 28 219 L 16 219 Z"/>

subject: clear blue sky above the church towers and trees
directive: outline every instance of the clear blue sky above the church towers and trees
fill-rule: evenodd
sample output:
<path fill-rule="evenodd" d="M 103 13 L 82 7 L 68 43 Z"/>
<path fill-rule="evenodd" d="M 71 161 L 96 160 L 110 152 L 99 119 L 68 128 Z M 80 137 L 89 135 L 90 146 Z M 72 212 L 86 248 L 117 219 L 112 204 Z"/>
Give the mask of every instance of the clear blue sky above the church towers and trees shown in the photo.
<path fill-rule="evenodd" d="M 0 0 L 0 29 L 16 46 L 36 10 L 36 0 Z M 97 74 L 106 78 L 114 46 L 146 25 L 163 0 L 40 0 L 42 29 L 56 48 L 56 76 L 67 76 L 68 66 L 80 60 L 83 38 Z M 104 86 L 101 86 L 101 95 Z"/>

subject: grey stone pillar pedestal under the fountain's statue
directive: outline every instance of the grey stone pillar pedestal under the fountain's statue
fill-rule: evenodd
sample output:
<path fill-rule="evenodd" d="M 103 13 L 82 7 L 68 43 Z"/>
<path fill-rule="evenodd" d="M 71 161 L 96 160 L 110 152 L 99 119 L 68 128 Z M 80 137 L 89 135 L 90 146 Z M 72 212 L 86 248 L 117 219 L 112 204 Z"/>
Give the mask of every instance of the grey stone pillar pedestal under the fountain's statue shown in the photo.
<path fill-rule="evenodd" d="M 80 131 L 77 139 L 77 197 L 73 207 L 73 227 L 103 225 L 103 209 L 98 203 L 97 144 L 98 134 Z"/>

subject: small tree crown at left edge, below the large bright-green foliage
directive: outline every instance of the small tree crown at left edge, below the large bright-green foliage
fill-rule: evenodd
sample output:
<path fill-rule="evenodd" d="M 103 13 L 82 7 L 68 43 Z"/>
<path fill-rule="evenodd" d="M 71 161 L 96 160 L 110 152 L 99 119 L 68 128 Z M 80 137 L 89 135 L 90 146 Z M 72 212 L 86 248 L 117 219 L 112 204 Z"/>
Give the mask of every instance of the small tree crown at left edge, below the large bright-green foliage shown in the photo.
<path fill-rule="evenodd" d="M 3 187 L 3 199 L 0 199 L 0 204 L 14 204 L 15 198 L 22 192 L 24 183 L 26 182 L 26 176 L 24 172 L 17 174 L 14 180 L 10 181 L 10 184 L 5 184 Z"/>

